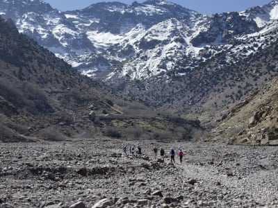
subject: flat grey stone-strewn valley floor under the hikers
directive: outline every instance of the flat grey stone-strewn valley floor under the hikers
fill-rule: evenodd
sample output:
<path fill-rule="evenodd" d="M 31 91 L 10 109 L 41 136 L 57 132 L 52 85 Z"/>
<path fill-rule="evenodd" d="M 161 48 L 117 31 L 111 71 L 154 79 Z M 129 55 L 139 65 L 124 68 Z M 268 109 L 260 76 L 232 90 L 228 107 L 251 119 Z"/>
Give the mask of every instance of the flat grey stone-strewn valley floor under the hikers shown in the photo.
<path fill-rule="evenodd" d="M 122 154 L 123 144 L 142 157 Z M 157 162 L 154 146 L 185 153 Z M 188 142 L 0 144 L 0 207 L 278 207 L 277 147 Z"/>

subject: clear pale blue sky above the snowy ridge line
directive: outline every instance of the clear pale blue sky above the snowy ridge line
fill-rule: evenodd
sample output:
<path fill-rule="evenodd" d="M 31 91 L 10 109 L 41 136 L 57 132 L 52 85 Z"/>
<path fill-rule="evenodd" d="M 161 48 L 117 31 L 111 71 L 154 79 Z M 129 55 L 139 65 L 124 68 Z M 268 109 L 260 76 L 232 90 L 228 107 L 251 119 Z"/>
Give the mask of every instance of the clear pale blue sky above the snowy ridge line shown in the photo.
<path fill-rule="evenodd" d="M 77 10 L 90 6 L 101 0 L 44 0 L 58 10 Z M 131 4 L 134 0 L 118 0 L 118 2 Z M 252 6 L 263 6 L 271 0 L 169 0 L 185 8 L 195 10 L 202 14 L 215 14 L 220 12 L 243 11 Z M 145 0 L 137 0 L 138 3 Z"/>

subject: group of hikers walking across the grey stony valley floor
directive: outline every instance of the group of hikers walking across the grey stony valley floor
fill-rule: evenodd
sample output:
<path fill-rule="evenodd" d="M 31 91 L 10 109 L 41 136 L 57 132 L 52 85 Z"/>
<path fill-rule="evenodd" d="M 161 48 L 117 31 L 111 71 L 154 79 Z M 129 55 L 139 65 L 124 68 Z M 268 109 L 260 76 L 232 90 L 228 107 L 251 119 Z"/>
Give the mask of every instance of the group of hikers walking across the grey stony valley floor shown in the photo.
<path fill-rule="evenodd" d="M 153 152 L 154 152 L 154 159 L 158 159 L 158 148 L 156 146 L 153 148 Z M 160 158 L 164 162 L 165 150 L 161 147 L 159 152 L 160 152 Z M 136 157 L 138 155 L 142 155 L 142 148 L 140 146 L 135 147 L 135 146 L 131 145 L 131 146 L 129 146 L 129 154 L 136 156 Z M 128 155 L 126 145 L 124 146 L 124 155 Z M 175 152 L 174 152 L 173 148 L 170 149 L 169 155 L 170 155 L 171 162 L 174 163 Z M 179 153 L 177 155 L 179 156 L 179 161 L 182 162 L 183 151 L 179 150 Z"/>

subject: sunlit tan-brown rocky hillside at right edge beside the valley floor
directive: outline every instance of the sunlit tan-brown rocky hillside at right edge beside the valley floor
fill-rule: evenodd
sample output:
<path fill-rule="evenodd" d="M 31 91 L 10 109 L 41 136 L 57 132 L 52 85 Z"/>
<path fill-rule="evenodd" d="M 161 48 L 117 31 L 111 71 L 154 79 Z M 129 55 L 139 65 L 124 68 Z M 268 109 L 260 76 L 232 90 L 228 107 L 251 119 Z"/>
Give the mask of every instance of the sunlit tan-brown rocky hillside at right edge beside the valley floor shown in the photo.
<path fill-rule="evenodd" d="M 278 146 L 278 78 L 224 114 L 208 141 Z"/>

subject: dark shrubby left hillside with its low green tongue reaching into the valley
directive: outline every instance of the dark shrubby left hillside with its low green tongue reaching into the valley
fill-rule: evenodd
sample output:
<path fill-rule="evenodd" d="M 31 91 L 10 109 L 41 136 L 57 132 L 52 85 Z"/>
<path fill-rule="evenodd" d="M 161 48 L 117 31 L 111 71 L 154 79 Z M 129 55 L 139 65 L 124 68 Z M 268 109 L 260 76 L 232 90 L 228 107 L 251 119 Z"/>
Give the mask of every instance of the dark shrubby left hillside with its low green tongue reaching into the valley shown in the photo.
<path fill-rule="evenodd" d="M 82 76 L 0 19 L 0 141 L 76 135 L 193 139 L 198 121 L 159 114 Z"/>

